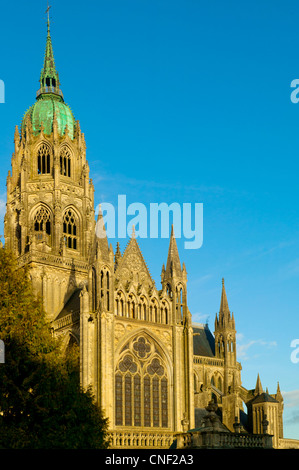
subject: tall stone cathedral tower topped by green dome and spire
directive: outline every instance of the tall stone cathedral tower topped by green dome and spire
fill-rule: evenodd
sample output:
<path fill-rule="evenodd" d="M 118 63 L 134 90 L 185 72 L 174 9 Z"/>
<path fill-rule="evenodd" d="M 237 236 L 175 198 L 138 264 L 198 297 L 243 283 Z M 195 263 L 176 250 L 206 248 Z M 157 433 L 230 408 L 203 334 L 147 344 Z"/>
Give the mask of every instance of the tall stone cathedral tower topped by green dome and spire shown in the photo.
<path fill-rule="evenodd" d="M 49 19 L 40 88 L 14 143 L 5 243 L 20 265 L 31 266 L 33 285 L 54 320 L 87 279 L 95 223 L 84 135 L 63 98 Z"/>

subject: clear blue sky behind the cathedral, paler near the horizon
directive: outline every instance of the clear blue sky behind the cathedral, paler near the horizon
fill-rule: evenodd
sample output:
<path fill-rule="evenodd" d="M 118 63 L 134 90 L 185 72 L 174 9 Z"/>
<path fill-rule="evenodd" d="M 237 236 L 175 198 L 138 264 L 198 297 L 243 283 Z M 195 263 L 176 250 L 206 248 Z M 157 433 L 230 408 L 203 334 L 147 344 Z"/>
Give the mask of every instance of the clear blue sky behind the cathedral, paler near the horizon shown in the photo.
<path fill-rule="evenodd" d="M 194 321 L 214 330 L 221 279 L 242 381 L 285 398 L 299 439 L 299 4 L 221 0 L 50 2 L 56 66 L 87 142 L 95 202 L 203 203 L 185 250 Z M 0 233 L 13 134 L 39 88 L 46 1 L 1 5 Z M 2 227 L 2 228 L 1 228 Z M 115 248 L 116 240 L 111 240 Z M 120 240 L 121 249 L 126 240 Z M 160 285 L 168 240 L 140 239 Z M 299 356 L 299 354 L 298 354 Z"/>

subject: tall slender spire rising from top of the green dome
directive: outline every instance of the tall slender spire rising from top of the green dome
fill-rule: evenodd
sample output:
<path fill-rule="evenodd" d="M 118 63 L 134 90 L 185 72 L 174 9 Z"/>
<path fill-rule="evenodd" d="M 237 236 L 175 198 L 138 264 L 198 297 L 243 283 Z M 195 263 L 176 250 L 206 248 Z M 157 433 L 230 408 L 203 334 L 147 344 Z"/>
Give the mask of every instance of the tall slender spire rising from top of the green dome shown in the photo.
<path fill-rule="evenodd" d="M 63 98 L 62 92 L 59 89 L 59 75 L 55 67 L 54 54 L 52 39 L 50 34 L 50 16 L 49 10 L 50 6 L 48 5 L 47 13 L 47 42 L 46 42 L 46 51 L 44 57 L 44 66 L 40 74 L 40 89 L 37 92 L 37 98 L 44 93 L 53 93 L 55 95 Z"/>

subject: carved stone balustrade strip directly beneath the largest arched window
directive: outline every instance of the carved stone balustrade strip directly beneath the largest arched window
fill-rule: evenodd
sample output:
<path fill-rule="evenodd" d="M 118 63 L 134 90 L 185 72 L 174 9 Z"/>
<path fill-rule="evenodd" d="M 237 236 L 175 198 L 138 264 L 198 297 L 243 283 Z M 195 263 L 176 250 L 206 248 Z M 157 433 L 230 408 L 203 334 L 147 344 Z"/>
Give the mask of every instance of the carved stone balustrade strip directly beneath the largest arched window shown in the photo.
<path fill-rule="evenodd" d="M 169 449 L 173 432 L 110 431 L 111 449 Z"/>

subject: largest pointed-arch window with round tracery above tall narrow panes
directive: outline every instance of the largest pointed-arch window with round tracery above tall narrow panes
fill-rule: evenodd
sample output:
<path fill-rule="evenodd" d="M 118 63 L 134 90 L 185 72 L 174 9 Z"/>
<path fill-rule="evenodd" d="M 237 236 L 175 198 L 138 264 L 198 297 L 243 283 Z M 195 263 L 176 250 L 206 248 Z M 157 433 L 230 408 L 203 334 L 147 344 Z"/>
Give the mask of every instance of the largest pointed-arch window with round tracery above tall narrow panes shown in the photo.
<path fill-rule="evenodd" d="M 169 378 L 155 346 L 140 335 L 122 349 L 115 371 L 115 425 L 169 427 Z"/>

